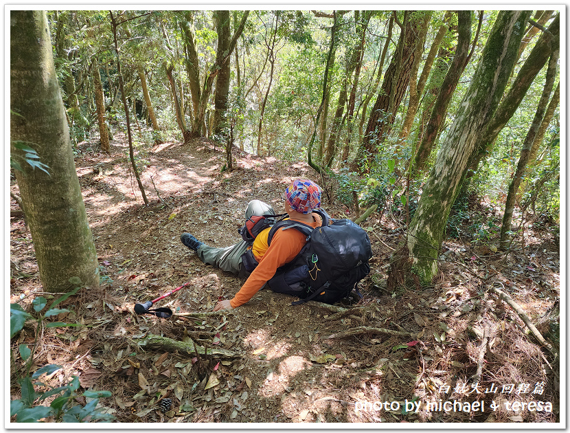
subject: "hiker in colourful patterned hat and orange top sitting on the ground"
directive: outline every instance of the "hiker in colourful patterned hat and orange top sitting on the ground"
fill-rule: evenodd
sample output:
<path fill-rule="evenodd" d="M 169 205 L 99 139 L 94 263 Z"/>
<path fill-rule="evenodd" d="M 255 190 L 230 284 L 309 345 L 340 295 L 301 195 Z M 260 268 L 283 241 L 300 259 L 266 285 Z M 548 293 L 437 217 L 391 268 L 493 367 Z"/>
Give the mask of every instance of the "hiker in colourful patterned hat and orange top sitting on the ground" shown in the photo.
<path fill-rule="evenodd" d="M 321 226 L 321 216 L 312 212 L 321 207 L 320 186 L 306 179 L 295 180 L 286 188 L 283 200 L 289 219 L 308 224 L 313 228 Z M 274 214 L 273 208 L 263 201 L 253 200 L 247 205 L 245 218 L 267 214 Z M 295 259 L 306 244 L 306 236 L 297 230 L 277 230 L 268 247 L 269 230 L 266 228 L 258 234 L 251 247 L 253 256 L 258 260 L 259 265 L 253 269 L 236 296 L 231 300 L 219 301 L 214 311 L 234 309 L 248 302 L 275 275 L 275 271 Z M 180 240 L 196 252 L 203 263 L 234 274 L 244 274 L 242 254 L 247 252 L 251 243 L 240 241 L 231 247 L 216 248 L 198 241 L 190 233 L 183 233 Z"/>

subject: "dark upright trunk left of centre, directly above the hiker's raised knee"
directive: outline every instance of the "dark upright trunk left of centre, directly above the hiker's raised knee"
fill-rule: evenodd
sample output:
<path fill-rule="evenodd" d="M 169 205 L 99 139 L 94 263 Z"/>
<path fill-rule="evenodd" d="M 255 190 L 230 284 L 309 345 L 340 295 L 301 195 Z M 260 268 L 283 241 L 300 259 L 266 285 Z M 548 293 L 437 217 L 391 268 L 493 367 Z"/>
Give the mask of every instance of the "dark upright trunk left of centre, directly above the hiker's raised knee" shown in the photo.
<path fill-rule="evenodd" d="M 229 47 L 229 10 L 218 10 L 216 26 L 218 30 L 218 50 L 227 51 Z M 214 94 L 214 135 L 223 135 L 226 126 L 227 97 L 229 94 L 229 59 L 221 65 L 216 78 Z M 225 141 L 225 140 L 224 140 Z"/>

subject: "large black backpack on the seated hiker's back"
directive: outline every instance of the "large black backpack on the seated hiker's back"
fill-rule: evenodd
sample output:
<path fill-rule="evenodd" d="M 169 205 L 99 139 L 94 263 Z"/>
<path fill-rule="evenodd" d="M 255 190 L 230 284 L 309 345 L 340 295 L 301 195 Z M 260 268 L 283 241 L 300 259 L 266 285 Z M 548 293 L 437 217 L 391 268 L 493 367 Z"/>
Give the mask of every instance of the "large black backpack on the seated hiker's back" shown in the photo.
<path fill-rule="evenodd" d="M 293 228 L 307 236 L 307 243 L 297 257 L 277 269 L 268 282 L 277 293 L 301 298 L 293 304 L 308 300 L 334 304 L 350 295 L 358 281 L 370 273 L 368 260 L 372 257 L 372 247 L 365 230 L 350 219 L 330 223 L 326 212 L 315 212 L 323 219 L 321 227 L 313 229 L 298 221 L 285 220 L 275 223 L 269 232 L 268 243 L 277 230 Z"/>

